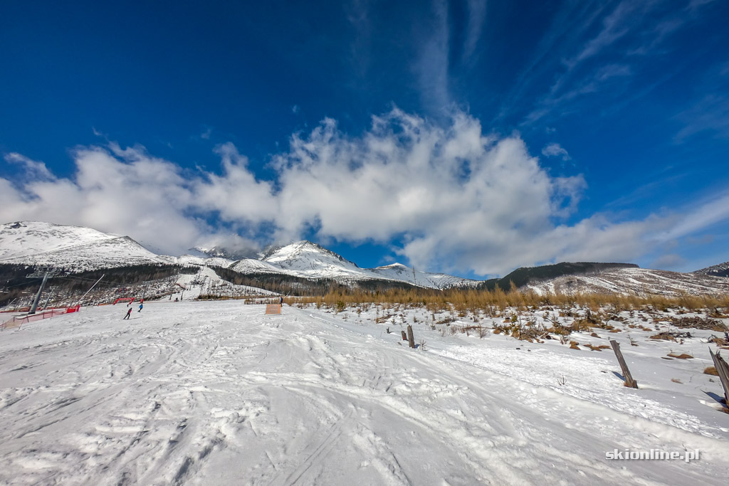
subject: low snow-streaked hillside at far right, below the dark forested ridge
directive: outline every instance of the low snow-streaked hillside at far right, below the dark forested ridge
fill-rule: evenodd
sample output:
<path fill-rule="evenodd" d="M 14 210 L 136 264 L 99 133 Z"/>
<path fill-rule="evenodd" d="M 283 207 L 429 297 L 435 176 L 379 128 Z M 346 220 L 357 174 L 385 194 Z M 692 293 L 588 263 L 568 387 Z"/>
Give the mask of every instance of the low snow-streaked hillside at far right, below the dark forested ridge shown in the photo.
<path fill-rule="evenodd" d="M 645 268 L 618 268 L 599 273 L 563 275 L 542 282 L 532 282 L 527 289 L 538 294 L 615 293 L 625 295 L 659 294 L 678 296 L 729 294 L 729 279 L 677 273 Z"/>

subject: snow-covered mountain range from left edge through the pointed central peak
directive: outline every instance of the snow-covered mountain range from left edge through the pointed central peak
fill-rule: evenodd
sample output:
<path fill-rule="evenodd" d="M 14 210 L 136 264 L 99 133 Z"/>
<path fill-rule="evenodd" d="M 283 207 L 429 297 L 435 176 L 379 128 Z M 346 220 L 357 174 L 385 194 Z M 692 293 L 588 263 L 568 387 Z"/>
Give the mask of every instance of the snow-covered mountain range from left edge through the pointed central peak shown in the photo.
<path fill-rule="evenodd" d="M 197 248 L 198 251 L 212 251 Z M 98 270 L 136 264 L 183 264 L 224 267 L 237 273 L 276 273 L 301 278 L 331 278 L 341 282 L 388 280 L 443 289 L 475 286 L 479 281 L 441 273 L 416 272 L 402 264 L 373 269 L 360 268 L 333 251 L 310 241 L 268 248 L 260 259 L 237 261 L 216 256 L 155 254 L 128 236 L 112 235 L 90 228 L 45 222 L 16 222 L 0 225 L 0 263 L 63 267 L 72 271 Z M 214 253 L 214 251 L 213 251 Z M 230 252 L 220 250 L 218 254 Z"/>

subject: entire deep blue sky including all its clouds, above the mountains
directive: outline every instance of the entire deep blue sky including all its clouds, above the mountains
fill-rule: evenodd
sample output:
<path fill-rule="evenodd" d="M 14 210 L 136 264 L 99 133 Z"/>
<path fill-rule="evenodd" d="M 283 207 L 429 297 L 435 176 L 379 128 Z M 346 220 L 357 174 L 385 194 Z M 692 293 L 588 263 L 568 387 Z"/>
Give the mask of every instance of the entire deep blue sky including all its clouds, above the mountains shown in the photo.
<path fill-rule="evenodd" d="M 0 219 L 470 277 L 729 260 L 729 4 L 3 2 Z"/>

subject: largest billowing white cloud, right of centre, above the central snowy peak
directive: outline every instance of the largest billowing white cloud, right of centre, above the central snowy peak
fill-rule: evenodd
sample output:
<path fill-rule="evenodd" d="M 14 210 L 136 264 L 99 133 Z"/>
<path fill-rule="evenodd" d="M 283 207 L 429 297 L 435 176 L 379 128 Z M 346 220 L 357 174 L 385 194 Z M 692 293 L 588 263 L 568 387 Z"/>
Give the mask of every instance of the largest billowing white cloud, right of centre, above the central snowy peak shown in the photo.
<path fill-rule="evenodd" d="M 653 222 L 553 221 L 574 209 L 582 177 L 554 178 L 520 138 L 483 136 L 459 114 L 448 128 L 394 110 L 362 138 L 332 120 L 278 156 L 283 235 L 307 225 L 340 240 L 403 235 L 418 267 L 486 275 L 553 259 L 634 259 Z"/>

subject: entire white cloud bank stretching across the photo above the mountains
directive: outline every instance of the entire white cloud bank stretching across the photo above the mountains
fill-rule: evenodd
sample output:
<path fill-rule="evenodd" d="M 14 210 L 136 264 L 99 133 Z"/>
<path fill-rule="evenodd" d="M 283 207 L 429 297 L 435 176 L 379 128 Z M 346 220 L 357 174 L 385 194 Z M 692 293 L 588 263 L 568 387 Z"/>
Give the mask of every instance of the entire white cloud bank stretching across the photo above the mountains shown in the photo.
<path fill-rule="evenodd" d="M 565 157 L 559 149 L 548 152 Z M 715 222 L 725 202 L 695 208 L 693 225 L 665 215 L 572 221 L 587 190 L 582 176 L 551 176 L 521 138 L 484 135 L 464 113 L 441 125 L 393 109 L 357 137 L 324 119 L 271 157 L 272 180 L 259 179 L 233 144 L 215 153 L 220 166 L 211 172 L 181 168 L 140 146 L 79 147 L 69 179 L 50 172 L 0 179 L 0 216 L 124 233 L 168 252 L 250 248 L 314 232 L 321 240 L 397 244 L 424 269 L 503 275 L 545 262 L 631 261 L 697 230 L 697 222 Z"/>

